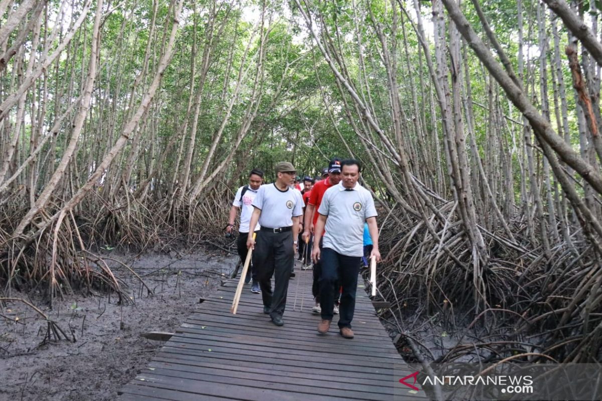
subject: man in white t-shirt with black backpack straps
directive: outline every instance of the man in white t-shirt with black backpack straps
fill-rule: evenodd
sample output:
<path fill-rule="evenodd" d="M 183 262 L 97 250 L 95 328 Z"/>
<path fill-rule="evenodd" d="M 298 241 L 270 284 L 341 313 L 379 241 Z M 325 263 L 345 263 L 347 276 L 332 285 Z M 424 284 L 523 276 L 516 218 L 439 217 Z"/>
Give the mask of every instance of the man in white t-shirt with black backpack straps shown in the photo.
<path fill-rule="evenodd" d="M 247 236 L 249 234 L 249 222 L 251 220 L 251 215 L 253 214 L 253 200 L 255 200 L 255 195 L 257 195 L 257 191 L 259 191 L 259 187 L 263 183 L 263 175 L 264 172 L 259 170 L 258 168 L 253 168 L 249 173 L 249 184 L 243 185 L 238 188 L 236 191 L 236 195 L 234 195 L 234 201 L 232 201 L 232 207 L 230 209 L 228 227 L 226 227 L 226 231 L 228 233 L 232 233 L 234 229 L 234 220 L 238 214 L 238 209 L 240 209 L 240 227 L 238 227 L 238 239 L 237 239 L 237 251 L 238 256 L 240 256 L 241 261 L 244 263 L 244 260 L 247 259 L 247 252 L 249 249 L 247 248 Z M 259 235 L 259 224 L 255 227 L 255 233 Z M 252 257 L 252 259 L 254 259 Z M 251 261 L 251 268 L 247 272 L 247 277 L 245 278 L 245 283 L 249 283 L 253 278 L 253 284 L 251 286 L 251 292 L 255 294 L 261 293 L 259 289 L 259 282 L 257 281 L 257 271 L 255 267 L 255 263 Z"/>

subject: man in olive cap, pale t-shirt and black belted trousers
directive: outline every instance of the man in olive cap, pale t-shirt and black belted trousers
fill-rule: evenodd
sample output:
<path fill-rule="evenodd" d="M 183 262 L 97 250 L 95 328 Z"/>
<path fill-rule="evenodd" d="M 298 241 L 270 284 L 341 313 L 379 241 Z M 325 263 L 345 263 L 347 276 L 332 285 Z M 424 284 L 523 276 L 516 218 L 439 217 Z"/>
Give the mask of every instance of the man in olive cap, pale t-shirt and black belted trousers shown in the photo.
<path fill-rule="evenodd" d="M 276 164 L 276 182 L 259 187 L 253 200 L 247 248 L 255 249 L 255 263 L 264 313 L 276 326 L 284 325 L 282 314 L 287 304 L 288 280 L 294 263 L 299 219 L 303 215 L 301 193 L 290 186 L 296 170 L 289 162 Z M 261 224 L 261 235 L 253 240 L 255 225 Z M 270 279 L 274 276 L 274 292 Z"/>

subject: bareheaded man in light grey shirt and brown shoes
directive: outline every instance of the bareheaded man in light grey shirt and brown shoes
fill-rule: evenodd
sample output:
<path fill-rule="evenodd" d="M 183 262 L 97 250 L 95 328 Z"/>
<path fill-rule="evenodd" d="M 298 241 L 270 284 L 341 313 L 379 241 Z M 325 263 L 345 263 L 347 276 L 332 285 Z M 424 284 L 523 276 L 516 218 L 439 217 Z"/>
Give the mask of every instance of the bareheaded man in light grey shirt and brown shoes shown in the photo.
<path fill-rule="evenodd" d="M 349 159 L 341 162 L 341 182 L 324 192 L 318 209 L 318 221 L 314 228 L 314 262 L 320 260 L 320 307 L 322 320 L 318 332 L 326 334 L 330 328 L 334 308 L 335 283 L 343 287 L 339 307 L 339 332 L 345 338 L 353 338 L 351 321 L 355 312 L 355 293 L 358 273 L 364 254 L 364 222 L 372 237 L 371 257 L 380 260 L 376 208 L 370 192 L 358 184 L 361 164 Z M 323 249 L 320 238 L 324 233 Z"/>

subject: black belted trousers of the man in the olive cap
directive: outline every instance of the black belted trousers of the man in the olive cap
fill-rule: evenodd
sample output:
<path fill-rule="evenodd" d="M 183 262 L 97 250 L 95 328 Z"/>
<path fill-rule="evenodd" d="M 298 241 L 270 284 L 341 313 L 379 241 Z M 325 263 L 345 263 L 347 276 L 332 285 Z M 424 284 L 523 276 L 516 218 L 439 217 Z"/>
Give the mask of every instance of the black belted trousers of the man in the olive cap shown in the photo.
<path fill-rule="evenodd" d="M 270 308 L 271 317 L 282 316 L 287 305 L 288 280 L 295 257 L 293 232 L 261 231 L 253 254 L 264 307 Z M 270 281 L 272 276 L 275 281 L 273 292 Z"/>

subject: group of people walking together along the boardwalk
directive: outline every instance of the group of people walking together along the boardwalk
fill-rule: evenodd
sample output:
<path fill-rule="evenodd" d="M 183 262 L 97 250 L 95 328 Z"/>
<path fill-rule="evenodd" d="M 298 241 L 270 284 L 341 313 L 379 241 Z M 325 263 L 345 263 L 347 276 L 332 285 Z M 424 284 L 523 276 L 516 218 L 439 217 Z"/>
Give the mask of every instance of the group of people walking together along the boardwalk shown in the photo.
<path fill-rule="evenodd" d="M 261 292 L 263 312 L 276 326 L 284 325 L 288 282 L 294 254 L 303 265 L 313 262 L 314 313 L 321 315 L 318 332 L 326 334 L 334 314 L 345 338 L 353 338 L 352 320 L 362 257 L 380 260 L 376 208 L 370 191 L 359 185 L 361 163 L 330 161 L 322 177 L 301 179 L 290 162 L 279 162 L 276 181 L 263 183 L 263 171 L 253 169 L 249 184 L 238 188 L 229 213 L 229 232 L 240 209 L 238 254 L 246 259 L 253 249 L 249 280 Z M 364 231 L 371 249 L 364 254 Z M 363 264 L 365 265 L 364 262 Z M 272 289 L 271 279 L 274 277 Z"/>

